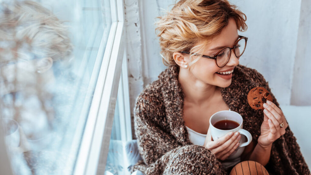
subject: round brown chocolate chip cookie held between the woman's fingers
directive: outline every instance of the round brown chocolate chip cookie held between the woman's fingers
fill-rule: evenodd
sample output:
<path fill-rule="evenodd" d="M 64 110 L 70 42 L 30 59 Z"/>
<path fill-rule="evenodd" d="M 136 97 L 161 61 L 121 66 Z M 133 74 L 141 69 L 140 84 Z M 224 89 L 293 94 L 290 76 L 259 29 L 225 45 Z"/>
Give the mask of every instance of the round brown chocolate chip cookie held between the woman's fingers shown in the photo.
<path fill-rule="evenodd" d="M 247 101 L 249 106 L 255 110 L 263 110 L 263 103 L 267 100 L 272 102 L 271 93 L 264 87 L 254 87 L 248 92 Z"/>

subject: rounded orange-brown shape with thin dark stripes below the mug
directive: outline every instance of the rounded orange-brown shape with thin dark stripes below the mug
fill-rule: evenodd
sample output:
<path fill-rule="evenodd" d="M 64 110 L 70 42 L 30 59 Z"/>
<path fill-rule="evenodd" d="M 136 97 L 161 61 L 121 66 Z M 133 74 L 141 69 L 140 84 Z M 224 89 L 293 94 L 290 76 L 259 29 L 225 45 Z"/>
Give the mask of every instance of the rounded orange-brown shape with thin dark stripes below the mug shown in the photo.
<path fill-rule="evenodd" d="M 244 161 L 236 164 L 230 175 L 268 175 L 267 169 L 260 163 L 255 161 Z"/>

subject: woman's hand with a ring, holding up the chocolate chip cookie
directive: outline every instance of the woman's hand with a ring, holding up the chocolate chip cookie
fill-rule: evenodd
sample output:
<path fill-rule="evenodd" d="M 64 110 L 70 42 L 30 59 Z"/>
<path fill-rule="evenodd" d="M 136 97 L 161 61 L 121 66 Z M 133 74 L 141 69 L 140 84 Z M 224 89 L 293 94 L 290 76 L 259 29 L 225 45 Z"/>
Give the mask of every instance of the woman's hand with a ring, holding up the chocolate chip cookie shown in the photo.
<path fill-rule="evenodd" d="M 280 108 L 274 103 L 267 101 L 264 103 L 263 110 L 264 118 L 261 125 L 261 134 L 258 138 L 258 144 L 263 148 L 270 146 L 275 140 L 285 134 L 285 129 L 288 124 L 285 116 Z M 283 127 L 281 127 L 281 123 Z"/>

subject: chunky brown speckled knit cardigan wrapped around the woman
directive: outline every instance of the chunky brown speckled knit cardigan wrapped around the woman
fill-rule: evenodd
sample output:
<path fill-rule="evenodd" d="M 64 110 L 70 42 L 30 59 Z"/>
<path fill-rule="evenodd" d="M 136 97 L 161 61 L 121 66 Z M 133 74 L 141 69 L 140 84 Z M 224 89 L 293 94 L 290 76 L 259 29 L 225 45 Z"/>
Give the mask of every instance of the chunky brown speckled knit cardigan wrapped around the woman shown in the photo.
<path fill-rule="evenodd" d="M 215 155 L 202 146 L 193 145 L 183 120 L 183 91 L 178 82 L 179 67 L 169 66 L 159 79 L 149 84 L 136 99 L 135 131 L 143 161 L 132 167 L 151 174 L 226 174 Z M 253 140 L 258 140 L 263 112 L 253 110 L 247 94 L 253 87 L 268 83 L 254 69 L 238 65 L 234 68 L 232 83 L 221 88 L 227 106 L 243 117 L 243 127 Z M 273 103 L 279 106 L 273 96 Z M 289 124 L 290 125 L 290 124 Z M 285 135 L 272 144 L 270 174 L 310 175 L 290 127 Z"/>

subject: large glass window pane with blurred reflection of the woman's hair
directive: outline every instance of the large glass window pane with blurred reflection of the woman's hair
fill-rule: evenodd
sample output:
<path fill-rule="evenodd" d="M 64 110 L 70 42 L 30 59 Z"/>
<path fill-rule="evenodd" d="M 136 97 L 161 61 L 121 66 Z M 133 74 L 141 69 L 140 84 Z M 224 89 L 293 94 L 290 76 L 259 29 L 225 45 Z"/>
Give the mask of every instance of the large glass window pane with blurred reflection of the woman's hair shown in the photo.
<path fill-rule="evenodd" d="M 0 116 L 15 174 L 72 174 L 111 25 L 109 0 L 2 1 Z"/>

